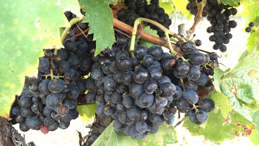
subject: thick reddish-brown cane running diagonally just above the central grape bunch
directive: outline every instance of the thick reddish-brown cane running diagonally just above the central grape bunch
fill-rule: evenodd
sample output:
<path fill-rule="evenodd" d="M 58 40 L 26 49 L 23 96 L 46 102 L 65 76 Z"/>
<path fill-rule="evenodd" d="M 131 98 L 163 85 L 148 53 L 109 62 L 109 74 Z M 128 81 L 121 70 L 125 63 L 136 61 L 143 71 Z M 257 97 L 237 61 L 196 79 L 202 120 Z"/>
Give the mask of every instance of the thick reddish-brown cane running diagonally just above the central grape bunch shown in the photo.
<path fill-rule="evenodd" d="M 123 31 L 125 31 L 126 33 L 132 34 L 133 32 L 133 27 L 130 25 L 127 25 L 126 23 L 121 22 L 120 20 L 117 20 L 115 18 L 113 18 L 113 26 L 117 27 Z M 160 46 L 164 46 L 166 48 L 169 48 L 169 43 L 167 45 L 166 44 L 166 40 L 164 40 L 163 38 L 159 38 L 156 36 L 153 36 L 149 33 L 146 33 L 143 31 L 143 29 L 137 29 L 136 31 L 136 35 L 140 36 L 140 39 L 145 39 L 146 41 L 152 42 L 154 44 L 160 45 Z M 171 44 L 172 48 L 176 51 L 176 52 L 180 52 L 179 47 L 177 47 L 175 44 Z"/>

